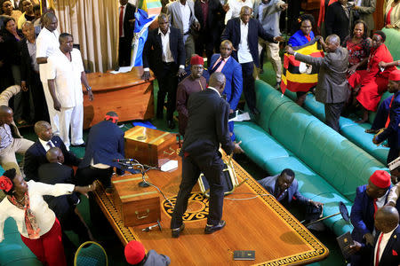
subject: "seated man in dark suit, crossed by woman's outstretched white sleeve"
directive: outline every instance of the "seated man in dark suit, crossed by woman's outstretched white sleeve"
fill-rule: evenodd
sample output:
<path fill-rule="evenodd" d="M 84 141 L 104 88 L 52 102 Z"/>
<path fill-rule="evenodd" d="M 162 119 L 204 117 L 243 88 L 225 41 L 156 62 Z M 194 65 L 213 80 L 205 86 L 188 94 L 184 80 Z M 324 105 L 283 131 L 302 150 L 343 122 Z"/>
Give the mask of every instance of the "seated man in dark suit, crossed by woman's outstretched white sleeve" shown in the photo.
<path fill-rule="evenodd" d="M 46 159 L 48 163 L 42 164 L 37 171 L 38 182 L 73 184 L 74 169 L 63 165 L 64 155 L 60 148 L 53 147 L 47 151 Z M 92 234 L 84 223 L 84 219 L 76 210 L 76 205 L 80 201 L 76 193 L 60 197 L 44 196 L 44 200 L 59 219 L 62 231 L 74 231 L 80 243 L 92 239 Z"/>

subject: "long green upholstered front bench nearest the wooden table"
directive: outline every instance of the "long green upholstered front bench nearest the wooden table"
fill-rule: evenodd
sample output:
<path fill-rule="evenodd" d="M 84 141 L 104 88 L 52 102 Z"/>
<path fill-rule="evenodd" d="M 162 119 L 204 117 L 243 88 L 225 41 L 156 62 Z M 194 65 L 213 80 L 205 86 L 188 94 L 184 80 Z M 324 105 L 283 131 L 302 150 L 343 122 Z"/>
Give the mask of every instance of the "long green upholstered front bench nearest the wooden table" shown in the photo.
<path fill-rule="evenodd" d="M 292 168 L 300 192 L 324 203 L 324 216 L 338 213 L 339 201 L 349 211 L 356 187 L 384 165 L 266 82 L 255 88 L 260 115 L 234 129 L 246 155 L 270 175 Z M 324 223 L 337 235 L 352 230 L 340 215 Z"/>

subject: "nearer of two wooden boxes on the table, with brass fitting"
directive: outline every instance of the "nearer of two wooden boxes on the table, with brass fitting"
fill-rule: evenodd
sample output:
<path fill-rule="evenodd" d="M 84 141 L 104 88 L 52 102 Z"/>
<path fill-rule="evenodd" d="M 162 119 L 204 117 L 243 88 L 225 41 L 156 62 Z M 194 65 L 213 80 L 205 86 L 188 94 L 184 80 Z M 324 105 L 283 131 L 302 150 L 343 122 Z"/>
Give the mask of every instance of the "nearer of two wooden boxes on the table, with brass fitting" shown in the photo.
<path fill-rule="evenodd" d="M 161 220 L 160 197 L 153 186 L 140 187 L 140 175 L 114 176 L 113 201 L 124 226 L 156 223 Z"/>

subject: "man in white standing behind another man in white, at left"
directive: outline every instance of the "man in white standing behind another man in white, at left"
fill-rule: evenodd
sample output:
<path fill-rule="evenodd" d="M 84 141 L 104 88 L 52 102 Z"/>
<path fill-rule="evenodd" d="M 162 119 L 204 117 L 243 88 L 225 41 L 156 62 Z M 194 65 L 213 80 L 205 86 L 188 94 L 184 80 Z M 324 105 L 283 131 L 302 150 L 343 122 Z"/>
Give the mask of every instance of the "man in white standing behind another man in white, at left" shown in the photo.
<path fill-rule="evenodd" d="M 54 109 L 52 95 L 47 84 L 47 58 L 56 51 L 59 51 L 60 47 L 60 33 L 57 30 L 59 20 L 57 20 L 57 17 L 52 12 L 48 12 L 44 14 L 43 23 L 44 27 L 36 39 L 36 62 L 39 64 L 40 81 L 43 84 L 44 97 L 50 116 L 50 123 L 52 124 L 52 132 L 59 134 L 60 113 Z"/>

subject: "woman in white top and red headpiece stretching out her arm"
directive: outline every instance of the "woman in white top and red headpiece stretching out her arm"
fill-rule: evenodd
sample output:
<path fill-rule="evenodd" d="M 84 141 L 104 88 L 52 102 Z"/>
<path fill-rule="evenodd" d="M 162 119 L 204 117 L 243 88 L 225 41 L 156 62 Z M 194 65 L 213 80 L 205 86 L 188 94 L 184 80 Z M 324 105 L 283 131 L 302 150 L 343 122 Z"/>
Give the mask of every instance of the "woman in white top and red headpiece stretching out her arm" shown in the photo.
<path fill-rule="evenodd" d="M 6 197 L 0 202 L 0 242 L 4 239 L 4 221 L 12 217 L 22 241 L 44 265 L 67 265 L 61 241 L 60 222 L 44 201 L 44 195 L 58 197 L 72 192 L 87 192 L 95 185 L 28 183 L 11 168 L 0 176 L 0 189 Z"/>

